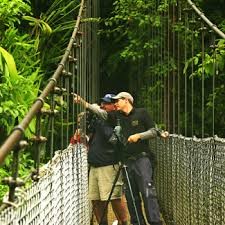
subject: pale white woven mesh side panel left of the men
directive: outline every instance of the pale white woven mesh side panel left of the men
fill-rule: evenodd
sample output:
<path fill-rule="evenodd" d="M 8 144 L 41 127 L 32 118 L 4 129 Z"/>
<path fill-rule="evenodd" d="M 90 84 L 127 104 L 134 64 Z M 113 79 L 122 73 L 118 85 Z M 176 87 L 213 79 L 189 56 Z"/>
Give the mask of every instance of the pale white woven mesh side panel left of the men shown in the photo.
<path fill-rule="evenodd" d="M 1 225 L 90 224 L 87 154 L 84 145 L 69 145 L 41 170 L 41 178 L 0 212 Z"/>

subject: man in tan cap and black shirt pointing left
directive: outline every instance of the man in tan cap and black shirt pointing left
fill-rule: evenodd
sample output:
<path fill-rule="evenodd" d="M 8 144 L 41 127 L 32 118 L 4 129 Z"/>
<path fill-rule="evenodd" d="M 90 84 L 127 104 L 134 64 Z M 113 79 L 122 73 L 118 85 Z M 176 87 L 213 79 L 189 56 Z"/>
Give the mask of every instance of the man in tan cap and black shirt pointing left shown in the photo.
<path fill-rule="evenodd" d="M 123 148 L 123 161 L 127 165 L 129 180 L 135 199 L 135 206 L 139 218 L 136 217 L 129 190 L 126 191 L 126 198 L 131 223 L 133 225 L 146 225 L 141 207 L 141 197 L 144 202 L 145 214 L 151 225 L 162 225 L 160 211 L 156 196 L 156 190 L 152 179 L 152 165 L 148 157 L 148 139 L 160 134 L 166 138 L 168 132 L 159 133 L 148 112 L 143 108 L 133 106 L 133 97 L 128 92 L 120 92 L 115 97 L 117 111 L 105 112 L 84 101 L 80 96 L 75 96 L 74 101 L 81 103 L 100 117 L 109 121 L 112 126 L 116 125 L 119 119 L 122 126 L 122 135 L 127 141 Z M 139 221 L 138 221 L 139 220 Z"/>

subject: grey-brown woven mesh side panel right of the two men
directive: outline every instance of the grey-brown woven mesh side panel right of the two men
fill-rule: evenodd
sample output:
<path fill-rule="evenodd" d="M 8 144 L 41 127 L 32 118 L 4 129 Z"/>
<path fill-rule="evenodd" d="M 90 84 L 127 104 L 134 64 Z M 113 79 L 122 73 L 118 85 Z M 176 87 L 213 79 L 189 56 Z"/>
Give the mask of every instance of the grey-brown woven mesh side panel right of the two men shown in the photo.
<path fill-rule="evenodd" d="M 225 224 L 225 139 L 171 135 L 151 146 L 166 224 Z"/>

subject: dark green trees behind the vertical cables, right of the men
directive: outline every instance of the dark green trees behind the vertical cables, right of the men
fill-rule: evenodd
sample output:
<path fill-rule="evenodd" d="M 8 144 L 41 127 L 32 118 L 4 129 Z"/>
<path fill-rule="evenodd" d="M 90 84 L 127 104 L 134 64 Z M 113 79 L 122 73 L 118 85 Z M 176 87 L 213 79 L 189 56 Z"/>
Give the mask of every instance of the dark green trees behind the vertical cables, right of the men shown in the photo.
<path fill-rule="evenodd" d="M 194 1 L 194 3 L 205 12 L 205 15 L 211 21 L 224 31 L 224 1 L 198 0 Z M 182 4 L 181 10 L 179 9 L 179 4 Z M 212 111 L 214 110 L 215 132 L 217 135 L 223 137 L 225 131 L 223 127 L 223 123 L 225 122 L 225 116 L 223 115 L 225 105 L 223 104 L 222 98 L 225 92 L 224 40 L 220 40 L 219 37 L 216 37 L 215 43 L 217 48 L 213 51 L 213 49 L 209 47 L 212 45 L 212 35 L 210 33 L 205 33 L 204 62 L 202 63 L 202 33 L 199 29 L 193 29 L 191 27 L 201 27 L 201 24 L 196 18 L 195 25 L 192 25 L 190 22 L 190 24 L 188 24 L 189 28 L 187 28 L 185 22 L 186 9 L 184 8 L 188 8 L 186 1 L 113 1 L 112 11 L 102 20 L 102 29 L 100 31 L 104 44 L 107 45 L 109 43 L 105 48 L 108 53 L 104 52 L 105 54 L 103 54 L 103 61 L 106 62 L 106 64 L 105 66 L 103 64 L 102 76 L 115 77 L 115 79 L 120 80 L 123 79 L 123 81 L 125 81 L 124 86 L 119 87 L 120 90 L 130 90 L 138 99 L 138 104 L 142 106 L 145 105 L 149 108 L 153 117 L 156 118 L 156 120 L 158 119 L 157 122 L 164 127 L 166 126 L 168 128 L 170 123 L 172 123 L 169 120 L 172 121 L 173 119 L 173 101 L 175 106 L 180 104 L 180 132 L 184 134 L 186 120 L 189 123 L 187 135 L 192 135 L 192 129 L 193 126 L 195 126 L 194 135 L 201 136 L 202 109 L 199 106 L 201 106 L 202 101 L 202 90 L 199 87 L 201 87 L 202 74 L 204 73 L 205 136 L 212 135 Z M 181 14 L 181 19 L 179 19 L 179 14 Z M 191 21 L 190 17 L 191 16 L 189 16 L 189 20 Z M 169 27 L 169 31 L 167 27 Z M 172 37 L 176 38 L 175 43 L 171 43 Z M 182 48 L 179 56 L 177 56 L 178 41 L 180 43 L 180 48 Z M 185 45 L 187 46 L 186 48 Z M 194 54 L 192 54 L 191 50 L 192 45 Z M 174 49 L 172 46 L 174 46 Z M 187 52 L 184 52 L 184 49 L 186 49 L 185 51 Z M 214 68 L 215 59 L 216 69 Z M 218 75 L 216 76 L 214 94 L 212 94 L 212 79 L 215 75 L 215 70 L 217 70 Z M 167 118 L 167 121 L 165 121 L 162 118 L 158 118 L 163 99 L 159 100 L 155 97 L 162 94 L 161 90 L 167 89 L 164 80 L 169 80 L 168 77 L 171 77 L 169 81 L 169 83 L 171 83 L 173 79 L 172 75 L 176 75 L 178 71 L 181 82 L 180 90 L 184 90 L 185 88 L 184 82 L 186 76 L 189 83 L 193 80 L 195 90 L 194 93 L 188 91 L 186 97 L 184 92 L 180 93 L 179 103 L 177 100 L 177 90 L 174 88 L 169 90 L 171 108 L 168 109 L 167 112 L 165 111 L 164 114 L 170 114 L 171 118 Z M 158 79 L 157 82 L 156 79 Z M 104 84 L 104 86 L 107 87 L 107 84 Z M 188 90 L 191 90 L 190 85 L 188 86 Z M 193 94 L 195 98 L 192 103 Z M 154 98 L 155 100 L 152 101 Z M 184 102 L 185 98 L 189 101 L 187 105 L 185 105 Z M 189 112 L 185 112 L 185 107 L 195 109 L 194 125 L 191 124 L 191 117 L 193 116 L 190 112 L 191 109 Z"/>

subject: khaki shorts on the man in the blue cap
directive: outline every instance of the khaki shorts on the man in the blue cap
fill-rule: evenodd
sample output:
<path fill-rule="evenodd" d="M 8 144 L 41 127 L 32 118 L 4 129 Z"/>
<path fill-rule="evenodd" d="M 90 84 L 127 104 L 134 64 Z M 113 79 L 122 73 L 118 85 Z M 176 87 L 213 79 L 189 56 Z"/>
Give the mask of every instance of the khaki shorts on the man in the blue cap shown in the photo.
<path fill-rule="evenodd" d="M 90 167 L 89 172 L 90 200 L 101 200 L 101 201 L 108 200 L 118 170 L 119 165 Z M 121 171 L 110 199 L 118 199 L 122 197 L 122 185 L 123 182 Z"/>

